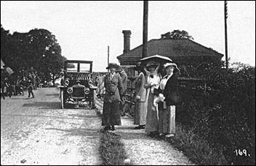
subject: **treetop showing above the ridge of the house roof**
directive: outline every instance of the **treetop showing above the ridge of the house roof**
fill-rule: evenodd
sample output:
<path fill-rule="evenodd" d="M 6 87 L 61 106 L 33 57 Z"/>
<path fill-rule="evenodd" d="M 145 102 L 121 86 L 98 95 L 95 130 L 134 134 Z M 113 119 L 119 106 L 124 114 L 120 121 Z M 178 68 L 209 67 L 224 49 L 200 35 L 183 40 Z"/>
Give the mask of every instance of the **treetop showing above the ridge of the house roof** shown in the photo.
<path fill-rule="evenodd" d="M 194 39 L 187 31 L 173 30 L 171 33 L 161 34 L 161 39 Z"/>

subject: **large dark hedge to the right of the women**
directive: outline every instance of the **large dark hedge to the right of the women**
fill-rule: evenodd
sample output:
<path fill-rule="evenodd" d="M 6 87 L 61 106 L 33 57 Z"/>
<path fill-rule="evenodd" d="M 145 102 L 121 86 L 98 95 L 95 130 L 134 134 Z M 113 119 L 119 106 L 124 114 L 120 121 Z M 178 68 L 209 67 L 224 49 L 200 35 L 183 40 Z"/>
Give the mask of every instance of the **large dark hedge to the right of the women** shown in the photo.
<path fill-rule="evenodd" d="M 178 123 L 216 151 L 222 149 L 228 164 L 255 165 L 255 67 L 215 65 L 201 75 L 207 87 L 180 88 L 183 102 L 177 106 Z M 237 156 L 239 149 L 246 149 L 247 156 Z"/>

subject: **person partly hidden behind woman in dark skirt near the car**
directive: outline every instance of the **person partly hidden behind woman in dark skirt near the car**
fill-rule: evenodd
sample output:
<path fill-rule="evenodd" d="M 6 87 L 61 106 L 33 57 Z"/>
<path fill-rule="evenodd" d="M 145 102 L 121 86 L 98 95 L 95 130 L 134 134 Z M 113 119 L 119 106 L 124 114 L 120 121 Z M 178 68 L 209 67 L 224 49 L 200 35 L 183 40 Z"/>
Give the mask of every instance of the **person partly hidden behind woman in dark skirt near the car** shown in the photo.
<path fill-rule="evenodd" d="M 124 110 L 124 105 L 125 105 L 125 94 L 127 91 L 127 73 L 124 72 L 124 69 L 122 67 L 118 67 L 117 69 L 118 74 L 121 76 L 121 83 L 123 85 L 124 92 L 123 94 L 120 94 L 120 110 L 121 110 L 121 116 L 125 116 L 125 110 Z"/>

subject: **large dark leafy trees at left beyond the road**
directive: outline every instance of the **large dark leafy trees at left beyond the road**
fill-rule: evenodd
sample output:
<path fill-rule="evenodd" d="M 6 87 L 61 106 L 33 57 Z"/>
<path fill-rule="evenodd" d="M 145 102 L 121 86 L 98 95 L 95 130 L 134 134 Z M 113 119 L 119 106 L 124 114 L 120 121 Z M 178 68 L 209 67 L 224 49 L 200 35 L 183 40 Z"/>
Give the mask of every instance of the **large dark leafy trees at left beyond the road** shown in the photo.
<path fill-rule="evenodd" d="M 1 59 L 14 71 L 34 67 L 50 79 L 63 68 L 64 56 L 56 37 L 46 29 L 32 29 L 28 33 L 4 30 L 1 26 Z"/>

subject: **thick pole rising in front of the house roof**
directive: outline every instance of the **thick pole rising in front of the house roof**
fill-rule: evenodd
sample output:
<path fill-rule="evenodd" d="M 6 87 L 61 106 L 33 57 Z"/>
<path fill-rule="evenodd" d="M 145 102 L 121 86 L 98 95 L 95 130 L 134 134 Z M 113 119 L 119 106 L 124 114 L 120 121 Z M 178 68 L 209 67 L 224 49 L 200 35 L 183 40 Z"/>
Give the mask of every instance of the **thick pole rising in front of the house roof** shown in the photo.
<path fill-rule="evenodd" d="M 148 1 L 143 1 L 143 53 L 142 58 L 147 57 L 148 42 Z"/>

